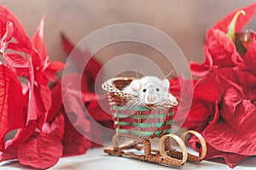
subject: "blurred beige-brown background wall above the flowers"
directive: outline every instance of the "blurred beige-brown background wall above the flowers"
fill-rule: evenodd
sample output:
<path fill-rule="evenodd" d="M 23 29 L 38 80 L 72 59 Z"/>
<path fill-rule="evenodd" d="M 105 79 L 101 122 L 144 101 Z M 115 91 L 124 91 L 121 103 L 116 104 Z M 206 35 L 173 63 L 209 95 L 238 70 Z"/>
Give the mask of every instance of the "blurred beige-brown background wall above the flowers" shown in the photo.
<path fill-rule="evenodd" d="M 46 14 L 44 42 L 52 60 L 62 60 L 60 32 L 74 43 L 92 31 L 117 23 L 135 22 L 154 26 L 172 37 L 189 60 L 203 61 L 202 44 L 208 27 L 236 8 L 255 0 L 0 0 L 20 19 L 32 37 L 41 17 Z M 256 20 L 248 28 L 256 30 Z M 85 47 L 84 47 L 85 48 Z M 96 54 L 102 63 L 119 54 L 141 54 L 158 60 L 167 73 L 169 64 L 154 49 L 138 43 L 117 43 Z M 121 64 L 120 64 L 121 65 Z"/>

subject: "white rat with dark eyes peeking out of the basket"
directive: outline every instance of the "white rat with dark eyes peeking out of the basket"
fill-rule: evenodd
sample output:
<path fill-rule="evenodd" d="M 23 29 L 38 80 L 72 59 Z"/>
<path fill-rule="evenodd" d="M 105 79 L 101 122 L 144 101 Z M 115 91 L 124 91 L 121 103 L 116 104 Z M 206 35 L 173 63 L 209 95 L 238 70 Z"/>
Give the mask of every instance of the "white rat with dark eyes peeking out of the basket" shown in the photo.
<path fill-rule="evenodd" d="M 125 94 L 137 96 L 144 104 L 156 104 L 166 101 L 177 103 L 176 98 L 169 94 L 169 86 L 170 82 L 167 79 L 161 80 L 158 77 L 146 76 L 133 80 L 122 91 Z"/>

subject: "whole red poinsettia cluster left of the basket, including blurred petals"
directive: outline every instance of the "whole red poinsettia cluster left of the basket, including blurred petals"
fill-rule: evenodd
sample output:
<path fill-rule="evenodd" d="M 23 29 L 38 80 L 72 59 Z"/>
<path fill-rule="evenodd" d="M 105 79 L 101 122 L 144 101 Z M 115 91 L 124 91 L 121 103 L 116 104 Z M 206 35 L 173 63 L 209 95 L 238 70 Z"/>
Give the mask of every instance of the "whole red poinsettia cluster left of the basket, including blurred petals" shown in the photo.
<path fill-rule="evenodd" d="M 77 73 L 62 77 L 62 81 L 56 77 L 64 65 L 49 61 L 43 41 L 44 17 L 31 40 L 7 8 L 0 6 L 0 16 L 0 162 L 18 159 L 21 164 L 44 169 L 55 165 L 61 156 L 84 154 L 96 146 L 83 135 L 93 129 L 90 115 L 112 125 L 88 84 L 95 83 L 102 65 L 91 59 L 82 91 L 78 91 L 76 84 L 70 83 L 79 82 Z M 67 39 L 63 43 L 70 53 L 72 44 Z M 82 94 L 82 101 L 78 94 Z M 84 111 L 84 105 L 90 113 Z M 14 129 L 14 139 L 5 142 L 5 135 Z"/>

